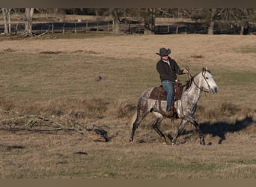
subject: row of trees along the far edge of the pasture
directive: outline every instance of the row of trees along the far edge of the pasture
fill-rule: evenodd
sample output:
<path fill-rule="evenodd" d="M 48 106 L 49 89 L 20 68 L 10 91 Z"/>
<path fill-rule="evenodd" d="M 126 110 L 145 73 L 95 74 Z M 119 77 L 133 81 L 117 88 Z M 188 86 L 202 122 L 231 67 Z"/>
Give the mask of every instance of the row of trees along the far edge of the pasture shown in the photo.
<path fill-rule="evenodd" d="M 156 18 L 186 18 L 207 24 L 208 34 L 213 34 L 216 22 L 235 22 L 240 26 L 240 34 L 249 28 L 250 22 L 256 22 L 255 8 L 1 8 L 4 23 L 4 35 L 11 34 L 11 17 L 24 23 L 25 36 L 33 36 L 32 24 L 34 13 L 55 15 L 93 15 L 111 16 L 112 31 L 121 33 L 121 22 L 130 19 L 144 22 L 144 34 L 155 34 Z M 127 19 L 129 18 L 129 19 Z M 247 32 L 249 34 L 249 32 Z"/>

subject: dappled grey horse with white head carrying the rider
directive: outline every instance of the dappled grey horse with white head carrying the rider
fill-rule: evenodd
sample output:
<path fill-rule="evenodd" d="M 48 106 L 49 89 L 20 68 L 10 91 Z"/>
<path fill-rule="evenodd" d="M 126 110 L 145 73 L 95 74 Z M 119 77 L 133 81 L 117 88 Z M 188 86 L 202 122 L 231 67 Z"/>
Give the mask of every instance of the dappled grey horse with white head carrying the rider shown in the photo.
<path fill-rule="evenodd" d="M 189 74 L 190 75 L 190 74 Z M 144 117 L 149 114 L 149 112 L 155 115 L 155 120 L 152 123 L 152 128 L 157 132 L 157 134 L 163 138 L 166 144 L 168 144 L 165 135 L 159 129 L 159 124 L 161 123 L 162 119 L 165 115 L 162 111 L 166 112 L 166 101 L 159 99 L 150 99 L 150 93 L 153 91 L 152 88 L 147 88 L 146 90 L 141 93 L 141 96 L 138 98 L 138 105 L 137 111 L 135 113 L 135 120 L 132 123 L 132 132 L 129 138 L 129 141 L 132 142 L 135 134 L 135 130 L 138 128 L 138 125 L 144 119 Z M 189 81 L 186 82 L 186 87 L 183 88 L 183 93 L 181 98 L 174 101 L 174 112 L 176 113 L 176 118 L 180 118 L 180 125 L 177 127 L 177 132 L 174 135 L 174 138 L 170 138 L 171 144 L 175 144 L 177 141 L 178 136 L 183 129 L 185 128 L 187 123 L 192 123 L 195 126 L 196 131 L 198 132 L 200 138 L 200 144 L 205 145 L 204 135 L 199 128 L 198 122 L 195 120 L 193 115 L 195 114 L 198 100 L 201 97 L 202 92 L 208 93 L 218 93 L 219 87 L 216 85 L 215 80 L 213 79 L 210 70 L 207 67 L 203 67 L 202 71 L 196 73 L 195 76 L 190 75 Z M 174 117 L 168 117 L 174 118 Z"/>

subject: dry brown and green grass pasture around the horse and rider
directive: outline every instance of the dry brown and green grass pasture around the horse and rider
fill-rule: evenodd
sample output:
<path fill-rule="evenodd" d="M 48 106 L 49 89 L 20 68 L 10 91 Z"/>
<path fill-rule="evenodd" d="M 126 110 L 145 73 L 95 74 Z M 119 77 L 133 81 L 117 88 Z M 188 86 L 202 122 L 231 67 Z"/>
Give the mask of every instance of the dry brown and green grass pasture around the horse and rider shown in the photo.
<path fill-rule="evenodd" d="M 255 179 L 255 41 L 204 34 L 0 37 L 0 178 Z M 207 66 L 219 85 L 218 94 L 201 96 L 195 113 L 206 146 L 191 125 L 177 145 L 162 144 L 152 114 L 129 143 L 138 96 L 160 84 L 161 47 L 192 75 Z M 179 122 L 165 119 L 160 129 L 174 135 Z M 56 124 L 62 129 L 33 130 Z"/>

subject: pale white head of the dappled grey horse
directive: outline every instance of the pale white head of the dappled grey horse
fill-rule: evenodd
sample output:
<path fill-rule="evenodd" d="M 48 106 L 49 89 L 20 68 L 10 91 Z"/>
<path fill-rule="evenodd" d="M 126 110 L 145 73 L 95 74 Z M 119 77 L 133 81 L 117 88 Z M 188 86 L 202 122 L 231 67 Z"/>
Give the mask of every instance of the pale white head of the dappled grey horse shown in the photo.
<path fill-rule="evenodd" d="M 202 72 L 202 80 L 201 80 L 201 88 L 205 91 L 209 91 L 210 93 L 217 93 L 219 91 L 219 87 L 213 79 L 210 70 L 207 67 L 204 67 Z"/>

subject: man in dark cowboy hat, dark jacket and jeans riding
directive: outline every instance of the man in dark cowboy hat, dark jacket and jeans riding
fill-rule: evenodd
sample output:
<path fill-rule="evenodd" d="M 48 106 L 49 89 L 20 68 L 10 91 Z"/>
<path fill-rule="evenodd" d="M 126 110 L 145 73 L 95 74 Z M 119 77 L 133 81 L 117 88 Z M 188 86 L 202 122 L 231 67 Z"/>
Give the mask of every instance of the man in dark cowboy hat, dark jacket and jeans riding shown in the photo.
<path fill-rule="evenodd" d="M 172 117 L 174 115 L 174 108 L 172 101 L 174 99 L 174 82 L 177 82 L 177 75 L 189 73 L 189 70 L 186 68 L 180 70 L 180 67 L 177 65 L 174 59 L 171 59 L 168 55 L 171 54 L 171 49 L 161 48 L 159 53 L 156 52 L 156 55 L 159 55 L 161 59 L 156 64 L 156 70 L 159 73 L 162 88 L 167 92 L 167 115 Z"/>

